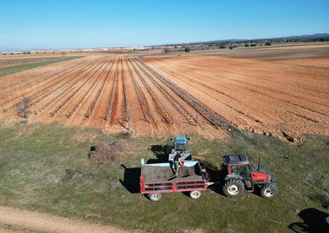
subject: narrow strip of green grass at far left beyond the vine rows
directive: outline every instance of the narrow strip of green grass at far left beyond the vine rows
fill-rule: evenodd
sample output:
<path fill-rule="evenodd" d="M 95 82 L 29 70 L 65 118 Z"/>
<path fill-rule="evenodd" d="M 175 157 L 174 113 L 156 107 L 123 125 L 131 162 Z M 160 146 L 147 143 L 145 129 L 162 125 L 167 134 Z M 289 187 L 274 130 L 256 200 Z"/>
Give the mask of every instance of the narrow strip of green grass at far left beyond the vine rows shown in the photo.
<path fill-rule="evenodd" d="M 64 61 L 71 60 L 71 59 L 77 59 L 79 57 L 82 57 L 82 56 L 60 57 L 58 59 L 51 59 L 49 61 L 44 61 L 44 62 L 32 62 L 32 63 L 28 63 L 28 64 L 18 64 L 18 65 L 14 65 L 11 67 L 4 67 L 4 68 L 0 68 L 0 76 L 7 75 L 7 74 L 13 74 L 16 72 L 22 72 L 26 69 L 33 69 L 35 67 L 41 67 L 41 66 L 45 66 L 47 64 L 52 64 L 52 63 L 56 63 L 56 62 L 64 62 Z"/>

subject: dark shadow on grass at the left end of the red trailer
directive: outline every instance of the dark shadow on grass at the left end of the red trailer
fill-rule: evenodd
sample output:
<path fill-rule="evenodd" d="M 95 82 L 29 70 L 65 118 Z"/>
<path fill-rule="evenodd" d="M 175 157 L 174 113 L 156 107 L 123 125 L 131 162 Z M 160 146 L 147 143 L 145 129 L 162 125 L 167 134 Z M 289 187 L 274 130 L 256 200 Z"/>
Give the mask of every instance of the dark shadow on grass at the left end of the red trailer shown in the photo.
<path fill-rule="evenodd" d="M 140 167 L 127 168 L 121 164 L 125 172 L 123 180 L 119 179 L 120 183 L 130 193 L 140 193 Z"/>

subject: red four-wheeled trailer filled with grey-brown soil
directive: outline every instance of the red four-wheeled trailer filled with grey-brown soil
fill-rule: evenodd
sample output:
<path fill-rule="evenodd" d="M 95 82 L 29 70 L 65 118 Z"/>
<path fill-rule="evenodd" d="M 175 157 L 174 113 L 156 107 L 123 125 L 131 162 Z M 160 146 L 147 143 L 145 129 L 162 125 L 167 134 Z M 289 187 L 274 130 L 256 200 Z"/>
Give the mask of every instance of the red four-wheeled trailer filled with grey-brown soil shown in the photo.
<path fill-rule="evenodd" d="M 185 161 L 179 168 L 179 176 L 174 176 L 172 163 L 145 164 L 142 159 L 140 169 L 140 193 L 152 201 L 160 200 L 162 193 L 189 192 L 191 198 L 201 197 L 210 182 L 206 169 L 199 161 Z"/>

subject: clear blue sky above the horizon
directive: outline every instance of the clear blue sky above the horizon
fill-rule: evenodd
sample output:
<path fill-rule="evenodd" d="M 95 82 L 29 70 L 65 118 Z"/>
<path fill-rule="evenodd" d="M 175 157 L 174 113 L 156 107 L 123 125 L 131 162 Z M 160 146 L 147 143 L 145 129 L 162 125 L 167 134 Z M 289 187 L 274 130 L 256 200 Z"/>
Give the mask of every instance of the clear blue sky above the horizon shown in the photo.
<path fill-rule="evenodd" d="M 329 1 L 0 0 L 0 50 L 329 33 Z"/>

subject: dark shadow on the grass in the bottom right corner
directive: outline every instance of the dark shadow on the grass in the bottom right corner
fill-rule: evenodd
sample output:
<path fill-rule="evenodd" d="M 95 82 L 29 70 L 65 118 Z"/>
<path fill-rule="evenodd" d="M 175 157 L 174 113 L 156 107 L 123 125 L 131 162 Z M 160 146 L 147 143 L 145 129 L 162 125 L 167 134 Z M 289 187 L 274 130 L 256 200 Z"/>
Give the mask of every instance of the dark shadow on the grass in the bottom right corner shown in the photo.
<path fill-rule="evenodd" d="M 329 224 L 325 222 L 325 218 L 329 214 L 315 208 L 308 208 L 299 212 L 299 217 L 303 222 L 294 222 L 288 226 L 289 229 L 296 233 L 325 233 L 329 232 Z"/>

